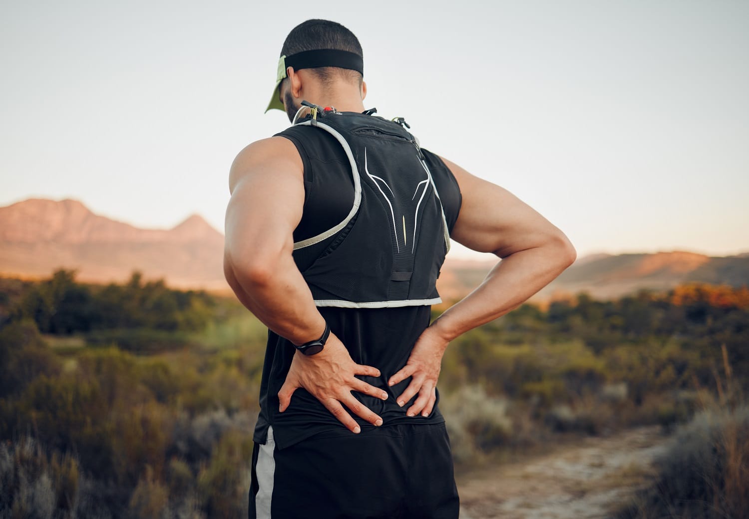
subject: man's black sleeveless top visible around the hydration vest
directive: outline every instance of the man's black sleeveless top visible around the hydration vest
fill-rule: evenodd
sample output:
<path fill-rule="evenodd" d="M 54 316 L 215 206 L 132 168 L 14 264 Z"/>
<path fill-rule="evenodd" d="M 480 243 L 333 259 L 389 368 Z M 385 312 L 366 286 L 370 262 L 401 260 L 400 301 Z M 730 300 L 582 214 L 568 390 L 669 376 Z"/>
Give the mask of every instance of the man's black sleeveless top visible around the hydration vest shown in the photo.
<path fill-rule="evenodd" d="M 378 117 L 370 115 L 369 117 Z M 354 199 L 354 179 L 351 162 L 345 150 L 333 135 L 312 126 L 290 126 L 274 136 L 288 138 L 297 147 L 304 166 L 305 199 L 303 215 L 294 230 L 294 242 L 318 236 L 339 224 L 351 211 Z M 431 151 L 421 148 L 425 164 L 431 171 L 434 185 L 440 196 L 448 230 L 458 219 L 461 193 L 452 173 Z M 294 259 L 300 271 L 304 271 L 336 240 L 337 234 L 321 242 L 295 251 Z M 439 389 L 428 417 L 407 417 L 406 411 L 418 395 L 402 408 L 395 402 L 410 383 L 406 378 L 393 387 L 387 380 L 408 360 L 411 348 L 431 320 L 431 306 L 419 304 L 402 307 L 346 308 L 318 307 L 330 325 L 330 330 L 348 348 L 354 362 L 368 364 L 380 369 L 380 377 L 357 375 L 357 378 L 380 387 L 389 394 L 386 401 L 354 391 L 360 402 L 383 419 L 383 426 L 396 423 L 441 423 L 444 418 L 439 410 Z M 344 427 L 315 396 L 303 388 L 297 388 L 291 396 L 288 408 L 279 413 L 278 392 L 296 349 L 294 345 L 273 331 L 268 331 L 268 340 L 261 378 L 260 407 L 253 439 L 265 443 L 267 429 L 273 426 L 273 434 L 279 449 L 303 440 L 317 432 Z M 350 413 L 362 427 L 374 427 L 357 415 Z M 353 434 L 353 433 L 352 433 Z"/>

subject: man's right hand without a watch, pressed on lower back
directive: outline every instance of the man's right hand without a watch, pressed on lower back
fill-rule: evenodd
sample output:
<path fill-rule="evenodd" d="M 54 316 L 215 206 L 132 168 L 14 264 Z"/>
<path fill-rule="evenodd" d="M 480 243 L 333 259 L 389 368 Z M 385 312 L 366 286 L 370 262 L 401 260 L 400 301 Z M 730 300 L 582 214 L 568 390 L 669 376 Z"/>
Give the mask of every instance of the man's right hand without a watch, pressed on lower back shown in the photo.
<path fill-rule="evenodd" d="M 408 416 L 415 417 L 416 414 L 421 413 L 422 416 L 428 417 L 431 414 L 434 402 L 437 401 L 435 388 L 437 387 L 437 378 L 440 377 L 442 356 L 447 344 L 446 340 L 435 333 L 434 328 L 426 328 L 419 339 L 416 340 L 416 344 L 413 345 L 406 365 L 390 377 L 388 381 L 390 386 L 412 377 L 406 390 L 395 399 L 398 405 L 402 407 L 416 393 L 419 393 L 419 397 L 406 411 Z"/>

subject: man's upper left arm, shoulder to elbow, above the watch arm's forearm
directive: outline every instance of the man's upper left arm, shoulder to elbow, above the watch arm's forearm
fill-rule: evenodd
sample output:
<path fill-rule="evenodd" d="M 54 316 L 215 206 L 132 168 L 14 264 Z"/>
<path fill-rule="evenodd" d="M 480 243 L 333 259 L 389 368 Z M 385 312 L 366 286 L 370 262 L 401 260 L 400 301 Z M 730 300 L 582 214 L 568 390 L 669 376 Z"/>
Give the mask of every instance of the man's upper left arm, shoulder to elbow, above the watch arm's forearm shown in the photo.
<path fill-rule="evenodd" d="M 303 165 L 294 144 L 282 137 L 250 144 L 234 159 L 229 185 L 225 263 L 290 254 L 304 205 Z"/>

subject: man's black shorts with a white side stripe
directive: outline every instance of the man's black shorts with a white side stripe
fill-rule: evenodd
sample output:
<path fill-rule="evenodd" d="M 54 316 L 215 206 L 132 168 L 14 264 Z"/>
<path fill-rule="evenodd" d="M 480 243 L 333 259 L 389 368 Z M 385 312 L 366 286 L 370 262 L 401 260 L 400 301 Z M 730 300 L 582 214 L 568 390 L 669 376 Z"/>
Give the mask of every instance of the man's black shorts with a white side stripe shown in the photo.
<path fill-rule="evenodd" d="M 444 423 L 320 432 L 252 449 L 249 519 L 458 519 Z"/>

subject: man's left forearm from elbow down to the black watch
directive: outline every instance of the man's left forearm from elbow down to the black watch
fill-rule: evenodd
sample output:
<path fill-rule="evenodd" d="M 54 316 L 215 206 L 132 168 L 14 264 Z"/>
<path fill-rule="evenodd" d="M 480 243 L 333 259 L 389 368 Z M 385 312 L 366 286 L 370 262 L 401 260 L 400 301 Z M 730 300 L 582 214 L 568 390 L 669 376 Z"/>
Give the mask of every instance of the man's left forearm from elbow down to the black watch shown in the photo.
<path fill-rule="evenodd" d="M 229 261 L 224 271 L 240 302 L 271 331 L 294 344 L 322 335 L 325 320 L 291 254 L 259 269 Z"/>

